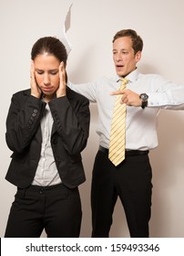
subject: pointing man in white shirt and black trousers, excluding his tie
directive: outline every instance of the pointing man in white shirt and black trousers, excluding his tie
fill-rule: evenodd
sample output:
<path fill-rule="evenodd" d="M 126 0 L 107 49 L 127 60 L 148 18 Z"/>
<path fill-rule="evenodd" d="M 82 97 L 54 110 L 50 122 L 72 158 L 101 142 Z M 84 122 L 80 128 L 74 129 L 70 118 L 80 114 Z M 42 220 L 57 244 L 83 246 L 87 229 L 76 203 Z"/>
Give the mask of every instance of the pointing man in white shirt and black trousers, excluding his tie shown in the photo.
<path fill-rule="evenodd" d="M 158 75 L 140 74 L 143 41 L 132 29 L 118 31 L 113 38 L 114 79 L 70 88 L 97 102 L 99 150 L 95 159 L 92 188 L 92 237 L 108 237 L 118 197 L 125 209 L 130 237 L 148 237 L 151 208 L 151 166 L 148 152 L 158 145 L 157 118 L 160 108 L 184 109 L 184 86 Z M 120 79 L 128 80 L 119 91 Z M 116 95 L 127 105 L 126 155 L 119 165 L 108 159 L 109 134 Z"/>

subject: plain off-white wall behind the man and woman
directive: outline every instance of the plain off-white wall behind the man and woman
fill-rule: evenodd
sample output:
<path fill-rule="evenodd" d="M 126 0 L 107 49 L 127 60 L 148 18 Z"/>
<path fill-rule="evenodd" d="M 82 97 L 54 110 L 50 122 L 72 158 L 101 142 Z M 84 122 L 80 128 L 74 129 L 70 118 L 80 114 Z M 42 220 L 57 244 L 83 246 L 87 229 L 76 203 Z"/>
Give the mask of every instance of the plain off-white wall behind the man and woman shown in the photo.
<path fill-rule="evenodd" d="M 15 196 L 5 180 L 11 151 L 5 144 L 5 119 L 12 94 L 30 86 L 30 51 L 39 37 L 59 37 L 68 6 L 73 45 L 67 73 L 73 82 L 112 77 L 112 38 L 124 28 L 137 30 L 144 40 L 138 68 L 184 84 L 183 0 L 0 0 L 0 237 Z M 183 95 L 184 97 L 184 95 Z M 80 186 L 83 219 L 81 237 L 91 235 L 90 182 L 98 147 L 97 106 L 90 105 L 91 124 L 83 152 L 87 182 Z M 184 237 L 184 112 L 161 111 L 158 148 L 150 152 L 153 169 L 150 237 Z M 136 133 L 136 131 L 135 131 Z M 106 214 L 106 213 L 104 213 Z M 118 200 L 110 237 L 128 237 L 125 213 Z M 46 236 L 43 232 L 43 237 Z"/>

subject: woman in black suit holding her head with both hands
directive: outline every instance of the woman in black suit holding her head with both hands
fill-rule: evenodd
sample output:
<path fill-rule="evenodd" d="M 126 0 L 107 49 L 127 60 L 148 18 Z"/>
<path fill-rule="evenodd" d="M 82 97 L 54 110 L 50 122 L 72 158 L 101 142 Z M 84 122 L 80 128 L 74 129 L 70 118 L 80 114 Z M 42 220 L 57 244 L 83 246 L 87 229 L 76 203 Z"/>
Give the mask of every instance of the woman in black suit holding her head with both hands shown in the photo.
<path fill-rule="evenodd" d="M 6 120 L 13 151 L 5 178 L 17 187 L 5 237 L 78 237 L 81 152 L 89 132 L 88 100 L 66 86 L 66 48 L 42 37 L 31 52 L 31 88 L 16 92 Z"/>

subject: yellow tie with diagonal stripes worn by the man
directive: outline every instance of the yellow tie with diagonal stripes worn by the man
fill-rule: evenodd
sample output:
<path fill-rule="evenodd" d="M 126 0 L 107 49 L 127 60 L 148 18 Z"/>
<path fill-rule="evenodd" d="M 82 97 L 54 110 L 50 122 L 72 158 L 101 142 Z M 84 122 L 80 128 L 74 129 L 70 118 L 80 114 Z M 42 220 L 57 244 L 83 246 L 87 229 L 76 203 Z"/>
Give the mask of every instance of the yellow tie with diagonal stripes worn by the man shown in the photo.
<path fill-rule="evenodd" d="M 127 79 L 122 81 L 120 91 L 126 88 Z M 111 123 L 108 158 L 114 165 L 119 165 L 125 159 L 125 133 L 126 133 L 126 104 L 120 104 L 122 95 L 118 95 Z"/>

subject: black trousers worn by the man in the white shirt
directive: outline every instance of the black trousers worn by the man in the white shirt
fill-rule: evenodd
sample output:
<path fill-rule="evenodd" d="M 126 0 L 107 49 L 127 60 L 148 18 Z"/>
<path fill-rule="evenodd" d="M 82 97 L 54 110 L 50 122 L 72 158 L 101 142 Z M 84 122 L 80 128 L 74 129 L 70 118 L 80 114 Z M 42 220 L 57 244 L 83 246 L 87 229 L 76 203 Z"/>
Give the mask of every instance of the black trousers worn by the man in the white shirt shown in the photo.
<path fill-rule="evenodd" d="M 125 209 L 130 237 L 148 237 L 151 177 L 148 154 L 127 156 L 115 167 L 105 152 L 97 152 L 91 187 L 92 237 L 108 237 L 118 197 Z"/>

